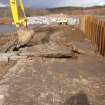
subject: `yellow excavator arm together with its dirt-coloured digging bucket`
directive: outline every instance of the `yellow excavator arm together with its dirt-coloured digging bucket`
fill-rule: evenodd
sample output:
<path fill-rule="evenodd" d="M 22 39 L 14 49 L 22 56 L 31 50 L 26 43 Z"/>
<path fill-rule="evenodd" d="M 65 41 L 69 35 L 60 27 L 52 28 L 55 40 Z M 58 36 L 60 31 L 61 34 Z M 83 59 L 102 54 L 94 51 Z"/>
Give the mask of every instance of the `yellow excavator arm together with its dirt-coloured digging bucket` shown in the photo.
<path fill-rule="evenodd" d="M 23 14 L 22 18 L 19 18 L 18 3 Z M 27 44 L 33 35 L 33 30 L 27 28 L 27 18 L 24 11 L 23 0 L 9 0 L 11 7 L 13 23 L 16 26 L 18 33 L 18 46 Z"/>

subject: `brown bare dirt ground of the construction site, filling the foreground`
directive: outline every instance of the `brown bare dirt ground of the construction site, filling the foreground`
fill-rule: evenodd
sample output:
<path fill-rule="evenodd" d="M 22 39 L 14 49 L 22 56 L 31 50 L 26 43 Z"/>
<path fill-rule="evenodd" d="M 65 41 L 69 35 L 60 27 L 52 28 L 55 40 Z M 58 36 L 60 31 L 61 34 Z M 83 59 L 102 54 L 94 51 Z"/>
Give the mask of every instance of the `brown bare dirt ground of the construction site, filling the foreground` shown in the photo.
<path fill-rule="evenodd" d="M 105 105 L 105 59 L 80 30 L 34 28 L 18 51 L 8 49 L 17 34 L 0 35 L 0 105 Z M 8 49 L 8 50 L 7 50 Z"/>

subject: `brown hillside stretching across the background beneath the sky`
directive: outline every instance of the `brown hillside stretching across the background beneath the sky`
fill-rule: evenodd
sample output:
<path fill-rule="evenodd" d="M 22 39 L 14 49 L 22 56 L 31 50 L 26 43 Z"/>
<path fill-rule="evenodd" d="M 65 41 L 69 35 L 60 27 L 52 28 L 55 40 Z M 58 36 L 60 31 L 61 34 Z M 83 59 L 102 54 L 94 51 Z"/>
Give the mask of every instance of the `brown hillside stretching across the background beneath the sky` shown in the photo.
<path fill-rule="evenodd" d="M 68 15 L 81 15 L 81 14 L 92 14 L 92 15 L 104 15 L 105 6 L 95 6 L 95 7 L 59 7 L 51 9 L 32 9 L 25 8 L 27 16 L 33 15 L 48 15 L 56 13 L 64 13 Z M 21 12 L 20 12 L 21 15 Z M 0 8 L 0 17 L 11 17 L 10 8 Z"/>

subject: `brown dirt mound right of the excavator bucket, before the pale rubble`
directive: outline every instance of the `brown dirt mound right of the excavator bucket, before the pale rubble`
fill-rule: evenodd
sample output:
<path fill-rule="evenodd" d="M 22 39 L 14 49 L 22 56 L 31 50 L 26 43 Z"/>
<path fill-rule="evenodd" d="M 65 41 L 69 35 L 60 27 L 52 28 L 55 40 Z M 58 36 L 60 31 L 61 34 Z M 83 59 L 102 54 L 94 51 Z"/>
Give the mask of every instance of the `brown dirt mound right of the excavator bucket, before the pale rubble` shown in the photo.
<path fill-rule="evenodd" d="M 74 27 L 70 26 L 49 26 L 39 27 L 34 29 L 34 36 L 31 44 L 35 43 L 47 43 L 48 41 L 54 41 L 56 43 L 70 43 L 72 41 L 83 41 L 85 35 Z"/>

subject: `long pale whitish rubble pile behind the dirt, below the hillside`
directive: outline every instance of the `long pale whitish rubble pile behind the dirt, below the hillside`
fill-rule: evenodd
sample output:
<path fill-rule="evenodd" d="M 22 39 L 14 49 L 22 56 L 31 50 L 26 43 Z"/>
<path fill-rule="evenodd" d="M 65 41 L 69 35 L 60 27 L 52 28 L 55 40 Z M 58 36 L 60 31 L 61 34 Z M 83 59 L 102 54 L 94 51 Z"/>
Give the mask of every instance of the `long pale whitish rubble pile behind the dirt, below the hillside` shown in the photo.
<path fill-rule="evenodd" d="M 34 16 L 34 17 L 27 17 L 27 24 L 30 25 L 50 25 L 50 24 L 57 24 L 58 20 L 63 20 L 66 18 L 68 20 L 68 25 L 78 25 L 80 23 L 79 18 L 76 17 L 65 17 L 65 16 Z"/>

